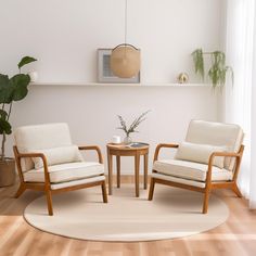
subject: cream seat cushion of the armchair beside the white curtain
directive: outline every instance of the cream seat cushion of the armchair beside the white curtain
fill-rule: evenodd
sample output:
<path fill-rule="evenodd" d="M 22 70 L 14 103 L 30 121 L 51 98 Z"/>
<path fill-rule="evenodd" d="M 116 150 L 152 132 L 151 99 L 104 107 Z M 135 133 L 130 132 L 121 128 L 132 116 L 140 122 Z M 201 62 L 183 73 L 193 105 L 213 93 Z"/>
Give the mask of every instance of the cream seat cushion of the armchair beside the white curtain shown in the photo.
<path fill-rule="evenodd" d="M 162 159 L 155 161 L 153 169 L 158 174 L 202 182 L 206 180 L 208 165 L 189 161 Z M 231 180 L 232 175 L 232 171 L 223 168 L 216 166 L 212 168 L 212 181 Z"/>

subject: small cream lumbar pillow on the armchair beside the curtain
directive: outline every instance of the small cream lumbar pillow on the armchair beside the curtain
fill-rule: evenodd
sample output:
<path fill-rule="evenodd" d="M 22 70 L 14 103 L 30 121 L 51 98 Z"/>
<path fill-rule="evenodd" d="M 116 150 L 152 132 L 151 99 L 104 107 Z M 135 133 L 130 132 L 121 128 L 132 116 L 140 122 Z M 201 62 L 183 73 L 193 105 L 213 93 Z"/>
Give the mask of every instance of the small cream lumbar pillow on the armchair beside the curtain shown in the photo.
<path fill-rule="evenodd" d="M 226 146 L 216 146 L 216 145 L 208 145 L 208 144 L 196 144 L 190 142 L 182 142 L 180 143 L 179 148 L 177 149 L 175 158 L 176 159 L 183 159 L 183 161 L 191 161 L 197 162 L 202 164 L 208 164 L 209 156 L 214 152 L 225 152 L 228 149 Z M 214 158 L 214 165 L 223 168 L 223 156 L 216 156 Z"/>

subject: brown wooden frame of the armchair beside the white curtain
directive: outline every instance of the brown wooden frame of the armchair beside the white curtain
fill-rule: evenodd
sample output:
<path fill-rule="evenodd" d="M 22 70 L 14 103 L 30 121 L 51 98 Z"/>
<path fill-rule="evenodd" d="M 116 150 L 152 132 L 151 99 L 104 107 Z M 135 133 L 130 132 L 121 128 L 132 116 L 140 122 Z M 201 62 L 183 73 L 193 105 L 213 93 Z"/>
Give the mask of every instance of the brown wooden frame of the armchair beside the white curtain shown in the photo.
<path fill-rule="evenodd" d="M 177 149 L 177 148 L 179 148 L 179 144 L 158 144 L 155 149 L 154 162 L 158 159 L 159 151 L 163 148 Z M 183 184 L 183 183 L 178 183 L 178 182 L 163 180 L 163 179 L 152 177 L 151 183 L 150 183 L 149 200 L 150 201 L 153 200 L 155 183 L 161 183 L 161 184 L 166 184 L 166 185 L 171 185 L 171 187 L 176 187 L 176 188 L 193 190 L 193 191 L 204 193 L 204 203 L 203 203 L 203 210 L 202 210 L 203 214 L 207 214 L 209 194 L 213 189 L 231 189 L 239 197 L 242 197 L 242 194 L 241 194 L 241 192 L 238 188 L 238 184 L 236 184 L 236 179 L 238 179 L 238 175 L 239 175 L 239 170 L 240 170 L 240 165 L 241 165 L 243 152 L 244 152 L 244 145 L 242 144 L 240 146 L 240 150 L 238 153 L 234 153 L 234 152 L 214 152 L 214 153 L 212 153 L 209 161 L 208 161 L 208 170 L 207 170 L 206 180 L 205 180 L 205 188 L 188 185 L 188 184 Z M 232 180 L 212 182 L 212 169 L 213 169 L 214 158 L 216 156 L 235 157 L 235 166 L 234 166 L 234 170 L 233 170 Z M 157 171 L 153 169 L 153 172 L 157 172 Z"/>

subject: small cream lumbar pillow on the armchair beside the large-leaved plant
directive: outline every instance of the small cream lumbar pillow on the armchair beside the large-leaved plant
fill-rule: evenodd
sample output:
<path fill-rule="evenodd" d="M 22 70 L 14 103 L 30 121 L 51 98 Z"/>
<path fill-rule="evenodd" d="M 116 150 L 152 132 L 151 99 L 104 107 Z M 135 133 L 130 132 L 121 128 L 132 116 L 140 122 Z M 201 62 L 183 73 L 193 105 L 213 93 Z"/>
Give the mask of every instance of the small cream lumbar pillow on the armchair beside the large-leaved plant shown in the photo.
<path fill-rule="evenodd" d="M 38 150 L 37 153 L 44 154 L 48 166 L 84 161 L 77 145 Z M 40 157 L 33 157 L 33 162 L 35 164 L 35 169 L 40 169 L 43 167 L 43 163 Z"/>

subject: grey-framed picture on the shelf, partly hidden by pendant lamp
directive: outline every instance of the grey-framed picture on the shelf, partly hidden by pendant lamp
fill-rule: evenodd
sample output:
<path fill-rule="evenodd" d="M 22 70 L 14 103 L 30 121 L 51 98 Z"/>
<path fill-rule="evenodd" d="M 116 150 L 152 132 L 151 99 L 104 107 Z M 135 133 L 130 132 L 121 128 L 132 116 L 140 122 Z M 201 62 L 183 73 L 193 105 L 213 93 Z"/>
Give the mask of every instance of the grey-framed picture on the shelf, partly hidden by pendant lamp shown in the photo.
<path fill-rule="evenodd" d="M 119 78 L 112 73 L 111 52 L 112 49 L 98 49 L 98 81 L 139 84 L 140 73 L 131 78 Z"/>

